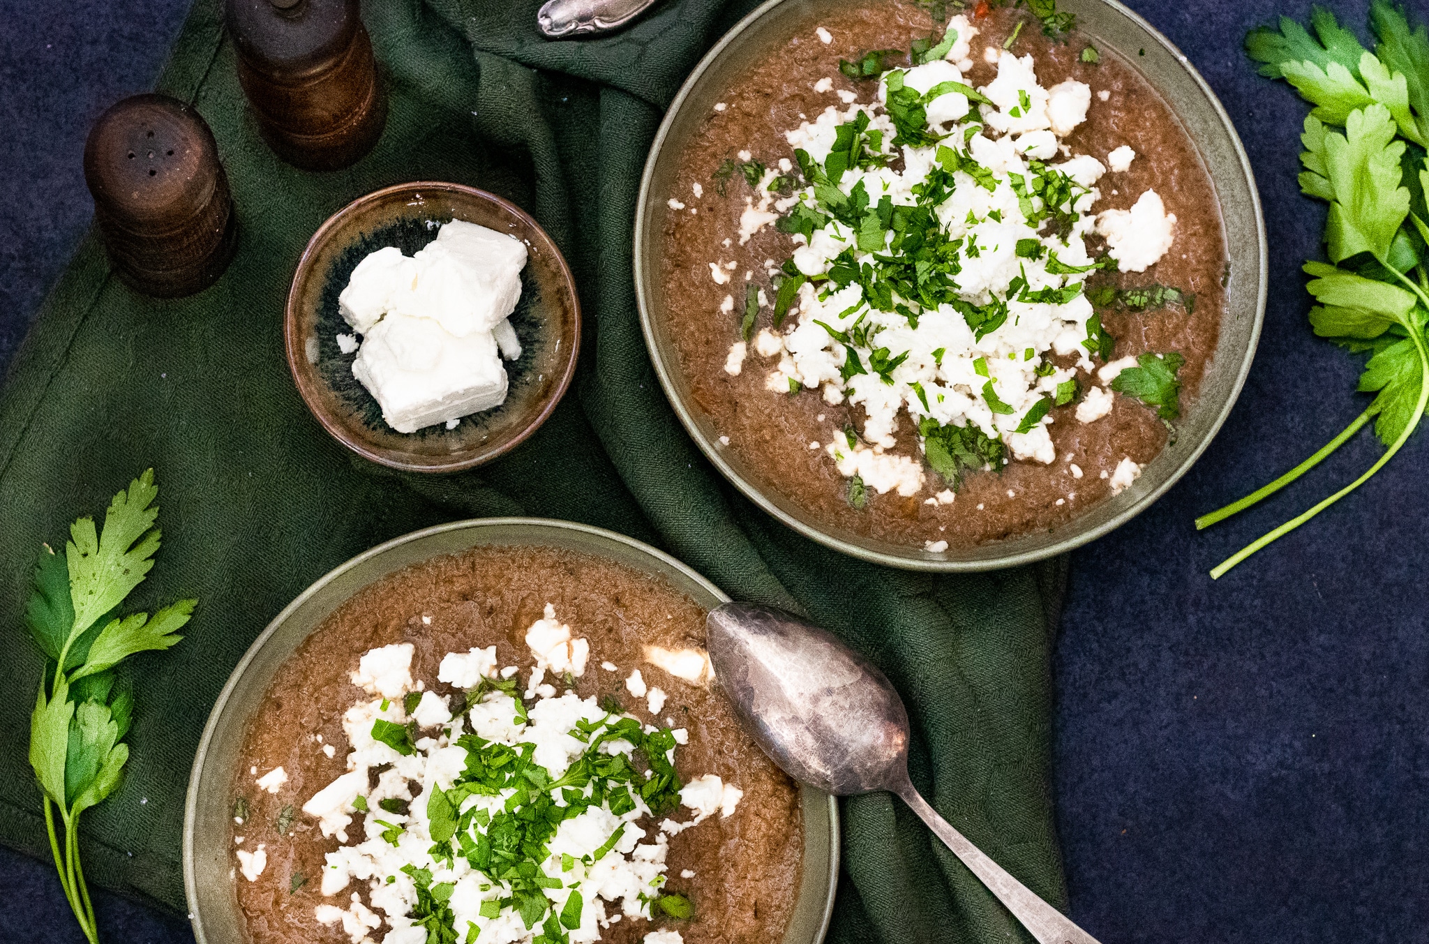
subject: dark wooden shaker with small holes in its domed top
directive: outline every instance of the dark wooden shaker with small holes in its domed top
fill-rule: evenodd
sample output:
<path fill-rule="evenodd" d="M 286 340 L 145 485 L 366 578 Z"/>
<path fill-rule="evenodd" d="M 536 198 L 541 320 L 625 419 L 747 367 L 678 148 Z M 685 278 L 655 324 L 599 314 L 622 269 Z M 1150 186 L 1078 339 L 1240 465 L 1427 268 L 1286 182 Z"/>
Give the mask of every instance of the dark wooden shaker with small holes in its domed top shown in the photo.
<path fill-rule="evenodd" d="M 159 94 L 119 101 L 84 143 L 84 181 L 114 271 L 177 298 L 223 274 L 237 220 L 219 147 L 191 106 Z"/>

